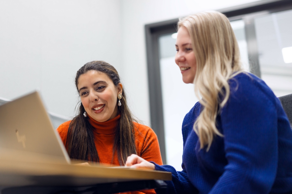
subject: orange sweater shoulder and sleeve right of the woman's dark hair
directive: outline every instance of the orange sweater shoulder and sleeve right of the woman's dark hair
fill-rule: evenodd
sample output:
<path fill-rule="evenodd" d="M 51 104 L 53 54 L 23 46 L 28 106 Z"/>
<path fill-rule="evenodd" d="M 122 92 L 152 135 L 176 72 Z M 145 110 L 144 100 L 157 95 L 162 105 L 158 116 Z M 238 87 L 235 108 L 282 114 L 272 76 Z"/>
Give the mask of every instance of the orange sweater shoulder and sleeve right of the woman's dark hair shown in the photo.
<path fill-rule="evenodd" d="M 137 155 L 147 161 L 153 161 L 159 165 L 162 165 L 159 143 L 157 135 L 153 129 L 137 122 L 133 123 Z"/>

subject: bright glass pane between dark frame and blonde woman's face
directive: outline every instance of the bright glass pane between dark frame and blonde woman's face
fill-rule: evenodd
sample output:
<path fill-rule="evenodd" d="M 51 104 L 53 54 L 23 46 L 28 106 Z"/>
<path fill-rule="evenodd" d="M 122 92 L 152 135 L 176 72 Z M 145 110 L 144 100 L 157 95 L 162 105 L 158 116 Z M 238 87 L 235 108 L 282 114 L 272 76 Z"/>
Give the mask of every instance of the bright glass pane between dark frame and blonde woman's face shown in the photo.
<path fill-rule="evenodd" d="M 174 62 L 176 37 L 167 34 L 159 37 L 159 62 L 164 116 L 166 163 L 182 170 L 182 123 L 185 115 L 198 101 L 194 85 L 183 83 L 182 74 Z"/>

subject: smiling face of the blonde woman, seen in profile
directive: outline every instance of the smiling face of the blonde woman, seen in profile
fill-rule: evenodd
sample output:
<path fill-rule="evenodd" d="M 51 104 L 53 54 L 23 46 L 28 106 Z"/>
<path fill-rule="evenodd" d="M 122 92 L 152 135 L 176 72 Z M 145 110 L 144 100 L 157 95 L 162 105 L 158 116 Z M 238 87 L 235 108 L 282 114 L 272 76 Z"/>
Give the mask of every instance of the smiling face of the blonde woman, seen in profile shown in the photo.
<path fill-rule="evenodd" d="M 183 82 L 193 83 L 196 75 L 196 57 L 192 49 L 192 40 L 185 26 L 178 29 L 175 48 L 175 63 L 183 75 Z"/>

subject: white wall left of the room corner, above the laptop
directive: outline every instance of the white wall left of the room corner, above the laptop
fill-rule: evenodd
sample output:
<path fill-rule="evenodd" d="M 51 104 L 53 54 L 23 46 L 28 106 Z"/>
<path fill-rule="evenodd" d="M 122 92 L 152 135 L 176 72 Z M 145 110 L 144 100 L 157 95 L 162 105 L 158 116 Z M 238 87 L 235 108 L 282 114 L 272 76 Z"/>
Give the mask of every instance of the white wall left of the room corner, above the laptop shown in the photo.
<path fill-rule="evenodd" d="M 48 111 L 72 117 L 74 76 L 92 60 L 121 71 L 119 0 L 0 0 L 0 97 L 38 89 Z"/>

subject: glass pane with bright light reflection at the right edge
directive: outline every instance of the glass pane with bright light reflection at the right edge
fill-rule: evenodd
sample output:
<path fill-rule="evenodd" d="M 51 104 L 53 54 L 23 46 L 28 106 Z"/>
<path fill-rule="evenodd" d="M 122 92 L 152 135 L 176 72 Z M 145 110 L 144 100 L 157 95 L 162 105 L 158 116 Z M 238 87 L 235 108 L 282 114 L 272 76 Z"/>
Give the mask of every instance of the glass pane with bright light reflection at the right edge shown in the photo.
<path fill-rule="evenodd" d="M 292 11 L 255 18 L 262 79 L 276 96 L 292 93 Z"/>

